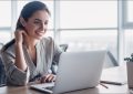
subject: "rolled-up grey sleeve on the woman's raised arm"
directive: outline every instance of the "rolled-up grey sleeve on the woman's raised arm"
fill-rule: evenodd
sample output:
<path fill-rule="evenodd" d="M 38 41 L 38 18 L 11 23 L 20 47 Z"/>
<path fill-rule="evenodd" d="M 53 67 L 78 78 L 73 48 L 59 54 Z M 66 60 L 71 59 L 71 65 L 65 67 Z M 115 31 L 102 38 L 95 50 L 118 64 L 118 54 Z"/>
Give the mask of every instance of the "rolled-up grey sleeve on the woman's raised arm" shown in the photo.
<path fill-rule="evenodd" d="M 12 51 L 13 48 L 10 48 L 1 53 L 2 62 L 6 67 L 6 75 L 8 80 L 8 84 L 10 85 L 25 85 L 29 82 L 30 71 L 29 67 L 27 67 L 25 71 L 20 70 L 14 64 L 16 56 L 14 51 Z"/>

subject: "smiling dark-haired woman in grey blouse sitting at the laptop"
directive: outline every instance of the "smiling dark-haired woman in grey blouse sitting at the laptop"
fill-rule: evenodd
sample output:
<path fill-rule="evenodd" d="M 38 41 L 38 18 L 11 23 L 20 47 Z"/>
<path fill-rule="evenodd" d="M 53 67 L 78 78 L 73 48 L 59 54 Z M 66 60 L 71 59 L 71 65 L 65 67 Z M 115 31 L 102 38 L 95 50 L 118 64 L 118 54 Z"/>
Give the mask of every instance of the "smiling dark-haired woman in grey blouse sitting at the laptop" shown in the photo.
<path fill-rule="evenodd" d="M 8 84 L 51 82 L 52 62 L 58 62 L 61 50 L 51 38 L 44 38 L 50 12 L 40 1 L 27 3 L 18 19 L 14 40 L 2 48 Z"/>

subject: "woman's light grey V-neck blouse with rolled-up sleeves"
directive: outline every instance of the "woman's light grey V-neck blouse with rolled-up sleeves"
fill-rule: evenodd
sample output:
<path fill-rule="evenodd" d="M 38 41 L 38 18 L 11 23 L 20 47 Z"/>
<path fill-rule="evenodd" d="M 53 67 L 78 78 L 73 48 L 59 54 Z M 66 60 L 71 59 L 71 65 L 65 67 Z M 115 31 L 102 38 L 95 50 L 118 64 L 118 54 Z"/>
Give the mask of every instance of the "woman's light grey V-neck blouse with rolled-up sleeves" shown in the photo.
<path fill-rule="evenodd" d="M 32 62 L 27 48 L 23 45 L 23 53 L 28 69 L 22 72 L 14 65 L 14 43 L 1 53 L 2 62 L 6 66 L 8 84 L 23 85 L 34 81 L 35 76 L 41 76 L 50 72 L 52 62 L 59 61 L 61 50 L 54 44 L 52 38 L 43 38 L 37 45 L 37 66 Z"/>

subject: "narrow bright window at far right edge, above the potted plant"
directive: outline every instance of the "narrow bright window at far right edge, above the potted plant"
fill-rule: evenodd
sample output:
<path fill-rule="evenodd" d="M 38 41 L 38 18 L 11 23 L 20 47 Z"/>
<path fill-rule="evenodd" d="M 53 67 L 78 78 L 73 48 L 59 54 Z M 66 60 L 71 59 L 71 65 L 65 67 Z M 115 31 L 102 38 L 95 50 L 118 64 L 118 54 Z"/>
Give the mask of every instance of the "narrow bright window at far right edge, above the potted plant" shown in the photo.
<path fill-rule="evenodd" d="M 133 53 L 133 0 L 126 1 L 125 14 L 126 18 L 124 21 L 125 30 L 124 30 L 124 56 L 130 56 Z"/>

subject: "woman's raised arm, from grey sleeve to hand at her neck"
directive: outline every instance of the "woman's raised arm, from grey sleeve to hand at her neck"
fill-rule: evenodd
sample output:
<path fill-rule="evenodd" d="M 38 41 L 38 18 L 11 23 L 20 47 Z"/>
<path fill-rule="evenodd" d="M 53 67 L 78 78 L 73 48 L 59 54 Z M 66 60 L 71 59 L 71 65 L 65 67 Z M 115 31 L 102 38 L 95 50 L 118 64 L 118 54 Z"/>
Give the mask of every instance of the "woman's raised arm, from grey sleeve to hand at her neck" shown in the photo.
<path fill-rule="evenodd" d="M 13 85 L 25 85 L 29 82 L 29 67 L 23 53 L 23 31 L 16 31 L 16 43 L 2 52 L 8 82 Z"/>

